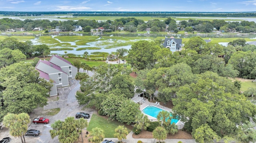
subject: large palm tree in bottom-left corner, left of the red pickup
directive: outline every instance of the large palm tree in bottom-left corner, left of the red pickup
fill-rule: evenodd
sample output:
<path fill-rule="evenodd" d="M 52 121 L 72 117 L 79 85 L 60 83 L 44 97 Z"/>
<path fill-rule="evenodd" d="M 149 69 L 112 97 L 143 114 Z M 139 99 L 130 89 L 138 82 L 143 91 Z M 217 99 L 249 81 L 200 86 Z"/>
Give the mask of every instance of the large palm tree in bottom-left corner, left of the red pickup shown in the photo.
<path fill-rule="evenodd" d="M 26 143 L 24 134 L 28 129 L 28 123 L 30 123 L 30 117 L 26 113 L 20 113 L 18 115 L 7 114 L 3 119 L 3 124 L 10 130 L 10 135 L 20 137 L 22 143 Z"/>

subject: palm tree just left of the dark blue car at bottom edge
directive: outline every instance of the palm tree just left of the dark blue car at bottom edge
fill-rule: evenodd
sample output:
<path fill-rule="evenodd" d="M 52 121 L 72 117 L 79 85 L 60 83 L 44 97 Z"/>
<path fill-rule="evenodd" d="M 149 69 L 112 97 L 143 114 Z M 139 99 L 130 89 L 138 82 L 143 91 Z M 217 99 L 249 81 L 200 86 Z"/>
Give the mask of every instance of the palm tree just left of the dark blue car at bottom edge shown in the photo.
<path fill-rule="evenodd" d="M 91 137 L 90 141 L 92 141 L 92 143 L 100 143 L 104 140 L 103 130 L 98 127 L 92 129 L 88 136 Z"/>

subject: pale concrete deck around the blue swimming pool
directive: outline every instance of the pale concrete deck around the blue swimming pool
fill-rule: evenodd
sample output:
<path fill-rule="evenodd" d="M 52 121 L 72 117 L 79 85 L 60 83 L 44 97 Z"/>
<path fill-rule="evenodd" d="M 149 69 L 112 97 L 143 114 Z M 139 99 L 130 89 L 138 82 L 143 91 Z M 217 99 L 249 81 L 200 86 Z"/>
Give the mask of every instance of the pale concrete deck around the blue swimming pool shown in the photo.
<path fill-rule="evenodd" d="M 145 102 L 143 102 L 143 104 L 141 104 L 140 105 L 140 111 L 142 111 L 144 108 L 146 108 L 147 106 L 155 106 L 155 107 L 157 107 L 157 108 L 161 108 L 161 109 L 163 109 L 163 110 L 166 110 L 166 111 L 170 111 L 170 112 L 172 112 L 172 109 L 170 109 L 170 108 L 167 108 L 167 107 L 164 107 L 164 106 L 162 106 L 162 105 L 158 105 L 158 106 L 156 106 L 156 105 L 154 105 L 155 104 L 155 102 L 153 103 L 153 102 L 149 102 L 148 101 L 148 99 L 145 99 Z M 154 118 L 154 117 L 152 117 L 152 116 L 149 116 L 149 115 L 147 115 L 148 116 L 148 119 L 150 120 L 150 121 L 157 121 L 157 119 L 156 118 Z M 178 125 L 178 129 L 182 129 L 183 127 L 184 127 L 184 122 L 182 122 L 182 121 L 178 121 L 177 123 L 176 123 L 176 125 Z"/>

